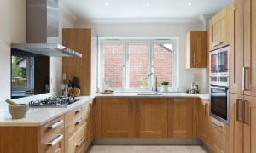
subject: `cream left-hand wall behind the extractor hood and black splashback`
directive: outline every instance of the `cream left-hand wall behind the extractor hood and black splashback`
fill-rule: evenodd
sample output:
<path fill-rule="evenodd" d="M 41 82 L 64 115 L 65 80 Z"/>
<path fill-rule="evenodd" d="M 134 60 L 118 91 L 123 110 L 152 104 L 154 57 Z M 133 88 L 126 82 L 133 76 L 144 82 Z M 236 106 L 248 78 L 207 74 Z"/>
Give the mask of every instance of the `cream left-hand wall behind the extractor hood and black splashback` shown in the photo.
<path fill-rule="evenodd" d="M 73 20 L 60 14 L 61 28 L 73 27 Z M 10 43 L 26 42 L 26 0 L 1 0 L 0 4 L 0 111 L 3 101 L 10 99 Z M 61 90 L 62 58 L 50 58 L 51 92 Z"/>

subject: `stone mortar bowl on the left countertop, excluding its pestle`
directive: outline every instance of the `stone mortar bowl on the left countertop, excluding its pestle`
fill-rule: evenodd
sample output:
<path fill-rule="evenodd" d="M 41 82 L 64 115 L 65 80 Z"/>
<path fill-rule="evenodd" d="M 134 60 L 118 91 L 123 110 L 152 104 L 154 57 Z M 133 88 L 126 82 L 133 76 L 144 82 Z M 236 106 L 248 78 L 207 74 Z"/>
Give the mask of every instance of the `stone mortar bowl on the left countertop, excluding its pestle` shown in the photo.
<path fill-rule="evenodd" d="M 20 119 L 26 117 L 27 110 L 27 104 L 9 105 L 9 113 L 12 115 L 13 119 Z"/>

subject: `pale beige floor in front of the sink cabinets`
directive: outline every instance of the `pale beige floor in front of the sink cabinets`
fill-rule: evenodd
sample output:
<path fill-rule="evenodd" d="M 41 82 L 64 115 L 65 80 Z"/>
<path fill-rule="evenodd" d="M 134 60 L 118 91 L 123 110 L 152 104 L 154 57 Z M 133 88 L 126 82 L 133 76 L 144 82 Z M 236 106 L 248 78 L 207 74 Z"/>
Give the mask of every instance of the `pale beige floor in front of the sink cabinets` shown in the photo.
<path fill-rule="evenodd" d="M 207 153 L 199 145 L 93 145 L 89 153 Z"/>

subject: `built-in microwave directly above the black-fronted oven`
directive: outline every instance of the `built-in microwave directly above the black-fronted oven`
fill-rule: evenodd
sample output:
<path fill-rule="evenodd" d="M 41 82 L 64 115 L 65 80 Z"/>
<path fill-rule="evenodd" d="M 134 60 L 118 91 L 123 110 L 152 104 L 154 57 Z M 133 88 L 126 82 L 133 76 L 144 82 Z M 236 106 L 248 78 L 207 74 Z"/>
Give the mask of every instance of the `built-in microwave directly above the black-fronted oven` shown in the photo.
<path fill-rule="evenodd" d="M 210 52 L 210 76 L 229 76 L 229 50 L 230 47 L 218 48 Z"/>

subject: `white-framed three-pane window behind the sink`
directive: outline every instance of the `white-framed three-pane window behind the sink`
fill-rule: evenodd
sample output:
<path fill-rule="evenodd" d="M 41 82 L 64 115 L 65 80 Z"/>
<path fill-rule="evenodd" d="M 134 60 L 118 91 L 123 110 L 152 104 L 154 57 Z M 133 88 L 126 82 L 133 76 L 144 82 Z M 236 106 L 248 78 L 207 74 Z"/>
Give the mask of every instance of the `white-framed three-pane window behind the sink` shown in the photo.
<path fill-rule="evenodd" d="M 107 80 L 113 90 L 151 90 L 155 85 L 154 73 L 161 82 L 176 87 L 176 39 L 132 40 L 101 39 L 100 82 Z"/>

